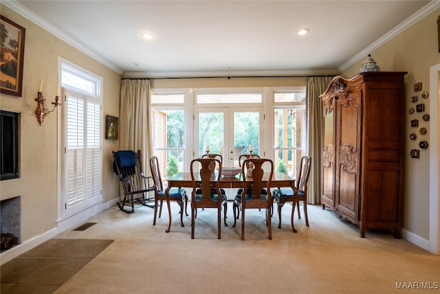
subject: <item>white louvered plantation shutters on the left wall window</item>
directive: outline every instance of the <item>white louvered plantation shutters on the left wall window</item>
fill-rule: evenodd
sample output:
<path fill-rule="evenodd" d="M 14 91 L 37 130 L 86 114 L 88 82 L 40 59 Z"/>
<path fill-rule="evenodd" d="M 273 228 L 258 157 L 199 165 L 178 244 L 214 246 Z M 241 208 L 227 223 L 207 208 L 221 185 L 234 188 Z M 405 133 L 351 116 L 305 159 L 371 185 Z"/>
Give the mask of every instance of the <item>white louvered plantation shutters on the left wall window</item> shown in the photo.
<path fill-rule="evenodd" d="M 65 213 L 100 201 L 102 152 L 101 105 L 96 98 L 65 90 Z"/>

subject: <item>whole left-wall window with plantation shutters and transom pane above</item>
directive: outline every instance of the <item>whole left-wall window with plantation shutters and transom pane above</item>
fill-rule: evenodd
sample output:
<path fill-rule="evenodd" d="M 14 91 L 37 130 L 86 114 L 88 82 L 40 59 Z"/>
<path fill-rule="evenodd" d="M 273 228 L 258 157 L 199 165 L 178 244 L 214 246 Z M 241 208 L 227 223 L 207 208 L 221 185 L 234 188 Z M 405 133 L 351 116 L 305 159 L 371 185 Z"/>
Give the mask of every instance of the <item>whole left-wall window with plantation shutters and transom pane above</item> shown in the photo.
<path fill-rule="evenodd" d="M 61 216 L 66 217 L 102 200 L 102 99 L 100 80 L 95 76 L 65 64 L 62 74 L 65 132 Z"/>

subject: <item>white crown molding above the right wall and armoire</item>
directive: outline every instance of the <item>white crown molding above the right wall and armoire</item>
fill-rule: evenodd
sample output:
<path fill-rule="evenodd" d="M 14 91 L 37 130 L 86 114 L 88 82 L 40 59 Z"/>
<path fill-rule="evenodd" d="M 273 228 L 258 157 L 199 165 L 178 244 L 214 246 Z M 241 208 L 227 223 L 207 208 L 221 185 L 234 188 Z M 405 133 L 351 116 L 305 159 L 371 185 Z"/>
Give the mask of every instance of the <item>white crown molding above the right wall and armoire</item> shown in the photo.
<path fill-rule="evenodd" d="M 426 17 L 428 14 L 430 14 L 434 10 L 437 10 L 438 8 L 440 8 L 440 1 L 432 0 L 430 3 L 426 4 L 425 7 L 421 8 L 421 10 L 415 12 L 415 14 L 412 14 L 412 16 L 406 19 L 406 21 L 397 25 L 397 27 L 393 28 L 393 30 L 384 34 L 384 36 L 380 37 L 380 39 L 377 39 L 377 41 L 369 45 L 369 47 L 365 48 L 364 50 L 353 56 L 351 59 L 349 59 L 346 63 L 342 64 L 340 67 L 338 67 L 338 70 L 340 72 L 347 70 L 347 68 L 351 67 L 351 65 L 354 65 L 356 62 L 364 59 L 365 56 L 367 56 L 377 48 L 380 48 L 380 46 L 384 45 L 395 36 L 401 34 L 402 32 L 404 32 L 404 30 L 410 28 L 412 25 L 417 23 L 417 21 L 420 21 L 421 19 L 423 19 L 423 17 Z"/>

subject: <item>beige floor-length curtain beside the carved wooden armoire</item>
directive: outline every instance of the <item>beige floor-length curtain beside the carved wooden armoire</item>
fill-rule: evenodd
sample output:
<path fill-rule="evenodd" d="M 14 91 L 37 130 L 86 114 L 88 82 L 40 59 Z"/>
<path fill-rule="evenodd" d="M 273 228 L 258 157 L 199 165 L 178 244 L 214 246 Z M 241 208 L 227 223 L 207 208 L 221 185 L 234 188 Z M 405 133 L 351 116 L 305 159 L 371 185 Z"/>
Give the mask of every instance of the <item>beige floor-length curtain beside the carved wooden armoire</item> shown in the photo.
<path fill-rule="evenodd" d="M 309 109 L 309 148 L 311 169 L 307 190 L 307 203 L 321 203 L 321 145 L 322 107 L 320 94 L 324 93 L 333 76 L 307 77 L 307 103 Z"/>

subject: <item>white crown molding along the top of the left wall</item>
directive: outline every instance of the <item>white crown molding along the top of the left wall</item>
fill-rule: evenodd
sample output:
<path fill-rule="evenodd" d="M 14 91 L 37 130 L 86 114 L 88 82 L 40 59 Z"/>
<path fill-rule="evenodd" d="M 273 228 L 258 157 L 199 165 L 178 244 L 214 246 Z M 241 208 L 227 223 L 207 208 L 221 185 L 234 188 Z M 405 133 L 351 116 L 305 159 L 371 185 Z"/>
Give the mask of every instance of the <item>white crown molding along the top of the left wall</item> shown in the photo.
<path fill-rule="evenodd" d="M 124 74 L 124 71 L 122 71 L 119 67 L 108 61 L 107 59 L 102 58 L 102 56 L 96 54 L 96 52 L 90 50 L 89 48 L 86 48 L 83 46 L 80 42 L 78 42 L 75 39 L 72 39 L 71 36 L 68 36 L 64 32 L 61 32 L 58 28 L 55 28 L 52 24 L 47 23 L 47 21 L 41 19 L 41 17 L 38 17 L 33 12 L 30 12 L 27 8 L 23 7 L 20 3 L 18 3 L 16 0 L 2 0 L 1 3 L 3 3 L 8 8 L 14 10 L 18 14 L 21 14 L 26 19 L 29 19 L 33 23 L 36 23 L 36 25 L 41 26 L 41 28 L 47 30 L 47 32 L 50 32 L 54 36 L 56 36 L 58 39 L 61 39 L 62 41 L 65 41 L 67 44 L 72 45 L 72 47 L 80 50 L 80 52 L 83 52 L 87 56 L 90 56 L 92 59 L 98 61 L 99 63 L 102 63 L 102 65 L 105 65 L 109 67 L 109 69 L 113 70 L 114 72 L 122 75 Z"/>

